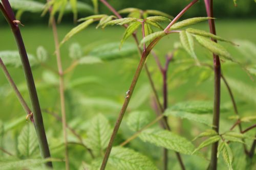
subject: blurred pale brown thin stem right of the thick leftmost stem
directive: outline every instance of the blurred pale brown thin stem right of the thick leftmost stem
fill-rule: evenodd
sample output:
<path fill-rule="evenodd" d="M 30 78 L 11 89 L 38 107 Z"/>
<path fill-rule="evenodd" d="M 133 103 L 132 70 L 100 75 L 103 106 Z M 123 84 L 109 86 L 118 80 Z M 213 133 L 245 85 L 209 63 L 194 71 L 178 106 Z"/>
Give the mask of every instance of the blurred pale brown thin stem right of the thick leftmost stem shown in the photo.
<path fill-rule="evenodd" d="M 64 84 L 64 75 L 61 64 L 61 57 L 59 51 L 59 41 L 58 41 L 58 32 L 56 27 L 55 19 L 52 20 L 52 31 L 55 43 L 56 50 L 56 59 L 59 73 L 59 95 L 60 95 L 60 107 L 61 107 L 61 122 L 62 122 L 62 131 L 65 143 L 65 165 L 66 170 L 69 170 L 69 152 L 68 152 L 68 134 L 67 134 L 67 122 L 66 122 L 66 108 L 65 108 L 65 84 Z"/>

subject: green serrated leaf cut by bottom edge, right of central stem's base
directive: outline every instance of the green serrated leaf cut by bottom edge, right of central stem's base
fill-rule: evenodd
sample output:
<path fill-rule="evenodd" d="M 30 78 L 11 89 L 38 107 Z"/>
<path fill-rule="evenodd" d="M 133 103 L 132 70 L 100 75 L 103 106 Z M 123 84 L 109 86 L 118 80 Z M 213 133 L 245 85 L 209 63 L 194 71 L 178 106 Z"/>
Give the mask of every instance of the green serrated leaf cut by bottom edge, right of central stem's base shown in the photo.
<path fill-rule="evenodd" d="M 110 154 L 109 163 L 115 169 L 125 170 L 157 170 L 158 168 L 146 156 L 128 148 L 114 147 Z"/>

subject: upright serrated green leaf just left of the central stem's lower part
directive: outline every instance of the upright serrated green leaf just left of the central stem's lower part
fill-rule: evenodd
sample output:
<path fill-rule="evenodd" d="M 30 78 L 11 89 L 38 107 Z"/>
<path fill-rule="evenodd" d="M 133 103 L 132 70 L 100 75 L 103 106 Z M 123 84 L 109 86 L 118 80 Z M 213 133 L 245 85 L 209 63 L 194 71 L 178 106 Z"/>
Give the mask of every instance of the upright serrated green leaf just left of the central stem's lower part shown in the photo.
<path fill-rule="evenodd" d="M 88 148 L 96 152 L 103 152 L 108 146 L 111 133 L 109 120 L 102 114 L 98 114 L 91 120 L 91 126 L 84 142 Z"/>

